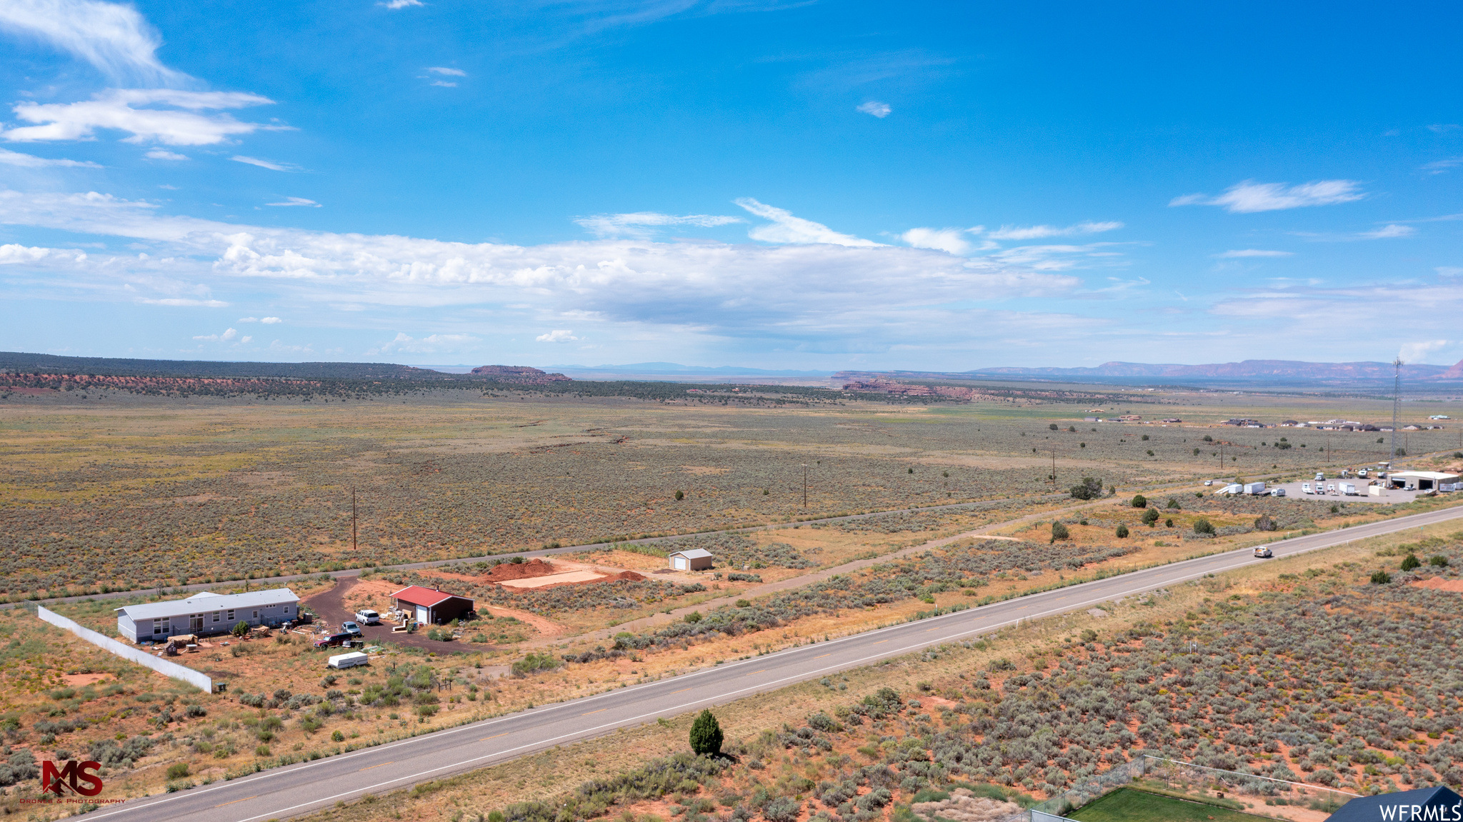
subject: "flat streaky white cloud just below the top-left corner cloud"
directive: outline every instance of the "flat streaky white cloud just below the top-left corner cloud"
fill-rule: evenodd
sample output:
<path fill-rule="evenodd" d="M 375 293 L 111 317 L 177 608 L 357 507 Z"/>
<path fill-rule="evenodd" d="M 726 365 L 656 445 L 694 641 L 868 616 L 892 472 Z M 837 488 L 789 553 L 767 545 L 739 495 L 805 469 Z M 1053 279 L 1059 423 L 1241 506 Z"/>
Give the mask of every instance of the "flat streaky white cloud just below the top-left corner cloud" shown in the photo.
<path fill-rule="evenodd" d="M 155 140 L 164 145 L 198 146 L 225 142 L 233 135 L 285 130 L 285 126 L 241 123 L 228 114 L 199 114 L 274 102 L 266 97 L 224 91 L 107 89 L 82 102 L 20 102 L 16 117 L 38 126 L 20 126 L 0 133 L 7 140 L 82 140 L 97 129 L 116 129 L 132 136 L 124 142 Z M 135 108 L 167 105 L 171 108 Z"/>

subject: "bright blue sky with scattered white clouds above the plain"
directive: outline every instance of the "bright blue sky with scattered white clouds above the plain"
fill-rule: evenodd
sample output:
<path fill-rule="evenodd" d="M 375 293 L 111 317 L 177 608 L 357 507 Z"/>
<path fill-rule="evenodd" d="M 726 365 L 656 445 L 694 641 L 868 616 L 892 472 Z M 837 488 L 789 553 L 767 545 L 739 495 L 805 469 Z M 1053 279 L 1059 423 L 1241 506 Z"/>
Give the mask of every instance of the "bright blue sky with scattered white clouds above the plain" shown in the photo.
<path fill-rule="evenodd" d="M 1456 4 L 0 3 L 0 350 L 1463 358 Z"/>

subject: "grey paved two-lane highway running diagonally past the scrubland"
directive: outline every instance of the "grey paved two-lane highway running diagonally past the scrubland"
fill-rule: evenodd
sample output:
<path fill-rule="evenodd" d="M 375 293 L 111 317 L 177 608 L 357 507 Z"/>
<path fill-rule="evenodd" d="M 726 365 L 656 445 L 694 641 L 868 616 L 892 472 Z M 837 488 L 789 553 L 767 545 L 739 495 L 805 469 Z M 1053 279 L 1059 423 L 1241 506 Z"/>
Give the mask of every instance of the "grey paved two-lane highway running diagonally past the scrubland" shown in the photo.
<path fill-rule="evenodd" d="M 1463 518 L 1463 508 L 1312 534 L 1271 546 L 1277 557 L 1285 557 L 1457 518 Z M 379 794 L 411 787 L 415 783 L 654 721 L 658 717 L 674 717 L 721 705 L 929 645 L 986 633 L 1021 620 L 1086 608 L 1119 597 L 1172 587 L 1206 573 L 1233 570 L 1261 562 L 1273 560 L 1254 559 L 1246 548 L 1150 568 L 843 639 L 802 645 L 572 702 L 275 768 L 227 783 L 129 800 L 107 806 L 92 813 L 89 819 L 260 822 L 297 816 L 366 793 Z"/>

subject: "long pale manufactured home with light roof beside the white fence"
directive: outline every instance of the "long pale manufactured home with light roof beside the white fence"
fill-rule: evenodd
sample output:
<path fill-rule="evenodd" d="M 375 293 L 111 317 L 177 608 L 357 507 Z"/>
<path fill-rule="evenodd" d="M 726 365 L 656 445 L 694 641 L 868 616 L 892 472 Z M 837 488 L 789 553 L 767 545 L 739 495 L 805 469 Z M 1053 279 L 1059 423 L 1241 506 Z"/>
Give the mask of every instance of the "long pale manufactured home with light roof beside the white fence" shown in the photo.
<path fill-rule="evenodd" d="M 133 642 L 165 642 L 174 633 L 228 633 L 238 623 L 278 626 L 300 616 L 300 597 L 288 588 L 212 594 L 117 608 L 117 633 Z"/>

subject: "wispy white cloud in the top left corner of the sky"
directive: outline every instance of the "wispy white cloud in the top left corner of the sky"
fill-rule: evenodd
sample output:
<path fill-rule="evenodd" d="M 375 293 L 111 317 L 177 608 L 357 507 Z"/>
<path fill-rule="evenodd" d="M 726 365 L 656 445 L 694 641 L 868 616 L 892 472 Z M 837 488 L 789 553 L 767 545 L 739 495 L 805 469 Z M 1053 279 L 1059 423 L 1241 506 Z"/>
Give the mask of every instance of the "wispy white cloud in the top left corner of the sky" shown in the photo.
<path fill-rule="evenodd" d="M 132 6 L 97 0 L 6 0 L 0 28 L 31 35 L 95 66 L 114 83 L 178 85 L 187 75 L 164 66 L 161 41 Z"/>

